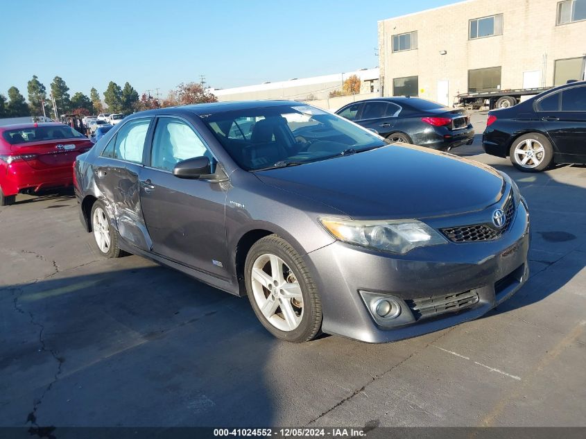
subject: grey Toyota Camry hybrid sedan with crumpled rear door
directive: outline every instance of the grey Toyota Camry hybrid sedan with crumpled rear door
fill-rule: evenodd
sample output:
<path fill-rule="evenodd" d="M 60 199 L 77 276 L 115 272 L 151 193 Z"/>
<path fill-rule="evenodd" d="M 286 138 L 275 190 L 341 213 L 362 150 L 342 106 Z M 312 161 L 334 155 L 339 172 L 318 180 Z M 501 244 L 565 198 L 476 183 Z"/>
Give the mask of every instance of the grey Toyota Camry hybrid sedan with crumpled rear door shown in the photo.
<path fill-rule="evenodd" d="M 74 174 L 102 255 L 248 295 L 286 341 L 433 332 L 528 277 L 528 209 L 506 174 L 298 102 L 132 114 Z"/>

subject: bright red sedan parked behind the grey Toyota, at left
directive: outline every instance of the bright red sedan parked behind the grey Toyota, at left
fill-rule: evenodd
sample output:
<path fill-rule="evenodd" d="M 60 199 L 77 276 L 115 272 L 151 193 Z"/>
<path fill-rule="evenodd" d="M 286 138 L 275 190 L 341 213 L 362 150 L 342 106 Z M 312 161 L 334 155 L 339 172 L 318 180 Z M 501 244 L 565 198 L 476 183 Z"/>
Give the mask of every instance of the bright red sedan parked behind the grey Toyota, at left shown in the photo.
<path fill-rule="evenodd" d="M 76 157 L 92 142 L 62 123 L 0 126 L 0 206 L 19 192 L 71 186 Z"/>

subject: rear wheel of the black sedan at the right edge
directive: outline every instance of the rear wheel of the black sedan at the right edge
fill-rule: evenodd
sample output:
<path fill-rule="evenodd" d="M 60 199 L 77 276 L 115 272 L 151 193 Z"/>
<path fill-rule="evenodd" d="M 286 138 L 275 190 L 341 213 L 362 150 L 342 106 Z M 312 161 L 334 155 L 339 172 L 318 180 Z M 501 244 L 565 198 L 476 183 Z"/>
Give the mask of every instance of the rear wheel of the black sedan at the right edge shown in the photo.
<path fill-rule="evenodd" d="M 532 132 L 512 142 L 510 162 L 523 172 L 541 172 L 553 164 L 553 148 L 544 135 Z"/>

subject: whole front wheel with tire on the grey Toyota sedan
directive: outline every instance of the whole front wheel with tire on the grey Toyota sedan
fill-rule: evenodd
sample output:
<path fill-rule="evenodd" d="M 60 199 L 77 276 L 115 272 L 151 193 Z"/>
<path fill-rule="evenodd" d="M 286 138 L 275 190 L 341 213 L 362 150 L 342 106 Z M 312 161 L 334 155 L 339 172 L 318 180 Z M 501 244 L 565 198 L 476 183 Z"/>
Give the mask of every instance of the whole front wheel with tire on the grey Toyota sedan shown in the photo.
<path fill-rule="evenodd" d="M 316 338 L 322 324 L 318 291 L 287 241 L 274 234 L 257 241 L 246 256 L 244 277 L 252 309 L 268 332 L 291 343 Z"/>

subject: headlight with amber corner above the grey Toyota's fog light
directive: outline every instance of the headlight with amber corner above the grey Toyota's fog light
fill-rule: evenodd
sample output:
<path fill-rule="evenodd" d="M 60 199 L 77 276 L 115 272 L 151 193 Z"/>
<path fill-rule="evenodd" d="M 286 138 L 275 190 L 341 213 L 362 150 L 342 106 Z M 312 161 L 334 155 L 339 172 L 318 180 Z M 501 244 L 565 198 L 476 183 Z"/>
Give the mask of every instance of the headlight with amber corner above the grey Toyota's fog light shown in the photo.
<path fill-rule="evenodd" d="M 417 220 L 354 221 L 319 218 L 334 238 L 358 246 L 404 255 L 416 247 L 447 243 L 444 236 Z"/>

